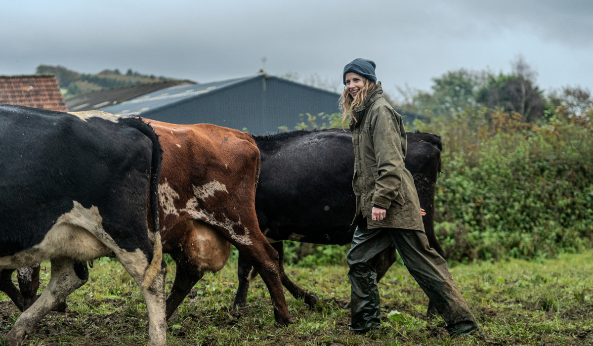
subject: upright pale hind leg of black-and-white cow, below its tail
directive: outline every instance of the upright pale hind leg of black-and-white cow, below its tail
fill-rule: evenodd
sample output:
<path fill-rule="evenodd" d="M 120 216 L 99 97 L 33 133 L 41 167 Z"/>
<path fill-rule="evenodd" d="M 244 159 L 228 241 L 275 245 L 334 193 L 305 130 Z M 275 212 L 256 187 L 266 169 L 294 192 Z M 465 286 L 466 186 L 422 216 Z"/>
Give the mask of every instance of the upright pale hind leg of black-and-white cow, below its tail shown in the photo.
<path fill-rule="evenodd" d="M 157 237 L 155 242 L 160 242 Z M 155 246 L 156 247 L 156 246 Z M 155 255 L 156 255 L 155 250 Z M 116 251 L 117 259 L 140 286 L 142 296 L 148 310 L 148 346 L 164 346 L 167 344 L 167 321 L 165 320 L 165 277 L 167 264 L 161 261 L 160 270 L 148 287 L 144 280 L 148 277 L 149 263 L 152 258 L 147 258 L 144 252 L 137 249 L 135 252 Z M 151 260 L 151 261 L 149 261 Z M 152 266 L 152 264 L 151 264 Z"/>

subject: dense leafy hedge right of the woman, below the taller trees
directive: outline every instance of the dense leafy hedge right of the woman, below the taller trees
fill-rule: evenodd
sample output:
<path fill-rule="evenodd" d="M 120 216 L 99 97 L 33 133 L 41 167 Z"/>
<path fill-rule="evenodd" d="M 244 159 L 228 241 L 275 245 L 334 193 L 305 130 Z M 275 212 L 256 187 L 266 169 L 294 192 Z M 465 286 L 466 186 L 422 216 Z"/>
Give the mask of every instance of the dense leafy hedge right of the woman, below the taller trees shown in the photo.
<path fill-rule="evenodd" d="M 588 119 L 563 107 L 540 126 L 517 113 L 491 116 L 490 124 L 471 112 L 415 123 L 442 136 L 435 233 L 449 258 L 545 258 L 591 247 Z"/>

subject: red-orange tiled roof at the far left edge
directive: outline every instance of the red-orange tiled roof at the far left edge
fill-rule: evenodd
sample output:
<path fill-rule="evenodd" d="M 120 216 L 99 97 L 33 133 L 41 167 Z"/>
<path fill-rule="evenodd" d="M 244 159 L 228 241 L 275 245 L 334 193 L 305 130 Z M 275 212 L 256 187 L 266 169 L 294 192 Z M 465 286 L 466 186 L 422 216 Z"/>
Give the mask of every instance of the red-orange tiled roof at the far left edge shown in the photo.
<path fill-rule="evenodd" d="M 0 103 L 68 112 L 54 75 L 0 76 Z"/>

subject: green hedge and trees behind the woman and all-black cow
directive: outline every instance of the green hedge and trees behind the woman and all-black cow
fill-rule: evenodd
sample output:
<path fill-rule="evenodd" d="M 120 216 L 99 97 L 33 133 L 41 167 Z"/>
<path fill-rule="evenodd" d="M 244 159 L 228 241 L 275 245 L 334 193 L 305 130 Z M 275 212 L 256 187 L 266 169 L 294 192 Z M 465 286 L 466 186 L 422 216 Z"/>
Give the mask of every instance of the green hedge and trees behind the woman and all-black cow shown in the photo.
<path fill-rule="evenodd" d="M 435 233 L 452 261 L 549 258 L 593 246 L 593 98 L 581 87 L 544 93 L 522 59 L 513 71 L 466 69 L 400 90 L 394 107 L 424 115 L 407 129 L 443 141 Z M 342 126 L 303 115 L 295 128 Z M 288 242 L 296 265 L 345 263 L 347 247 Z"/>

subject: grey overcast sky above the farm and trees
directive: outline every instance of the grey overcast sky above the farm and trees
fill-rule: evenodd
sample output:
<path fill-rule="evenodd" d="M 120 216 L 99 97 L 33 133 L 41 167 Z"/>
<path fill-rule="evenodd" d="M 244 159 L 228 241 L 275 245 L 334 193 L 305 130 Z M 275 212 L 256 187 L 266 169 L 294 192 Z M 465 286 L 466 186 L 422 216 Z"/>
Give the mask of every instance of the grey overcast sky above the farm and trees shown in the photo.
<path fill-rule="evenodd" d="M 593 0 L 3 1 L 0 75 L 37 65 L 132 68 L 197 82 L 266 72 L 341 82 L 377 63 L 395 94 L 459 68 L 510 71 L 519 54 L 543 88 L 593 89 Z"/>

